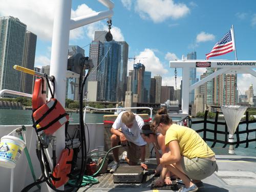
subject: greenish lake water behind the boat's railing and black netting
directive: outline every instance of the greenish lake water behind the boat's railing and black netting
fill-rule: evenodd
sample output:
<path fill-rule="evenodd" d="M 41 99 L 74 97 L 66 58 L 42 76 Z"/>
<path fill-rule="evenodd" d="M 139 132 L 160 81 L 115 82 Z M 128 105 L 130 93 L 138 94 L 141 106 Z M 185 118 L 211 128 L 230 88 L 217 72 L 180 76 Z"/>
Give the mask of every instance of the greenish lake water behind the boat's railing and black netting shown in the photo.
<path fill-rule="evenodd" d="M 26 110 L 7 110 L 0 109 L 0 125 L 31 125 L 31 114 L 32 111 Z M 70 115 L 70 123 L 79 123 L 79 114 L 78 113 L 69 113 Z M 86 114 L 86 122 L 85 123 L 102 123 L 104 114 Z M 201 120 L 193 118 L 193 121 Z M 192 124 L 192 128 L 195 130 L 201 129 L 203 124 Z M 208 124 L 209 128 L 212 128 L 214 125 Z M 219 127 L 220 126 L 220 127 Z M 224 126 L 218 126 L 218 130 L 225 130 Z M 256 123 L 249 124 L 249 129 L 255 129 Z M 240 131 L 245 130 L 245 124 L 240 125 Z M 207 133 L 207 138 L 213 138 L 213 133 Z M 200 134 L 202 136 L 202 134 Z M 223 135 L 217 134 L 219 140 L 224 140 Z M 255 133 L 250 133 L 249 139 L 255 138 Z M 240 140 L 244 140 L 246 138 L 246 134 L 240 135 Z M 236 139 L 236 136 L 235 136 Z M 207 142 L 209 146 L 211 146 L 211 142 Z M 222 148 L 223 144 L 216 144 L 212 150 L 218 155 L 227 155 L 228 154 L 228 146 Z M 244 156 L 256 156 L 256 143 L 250 142 L 248 148 L 244 148 L 245 144 L 241 144 L 238 148 L 235 149 L 236 155 L 244 155 Z"/>

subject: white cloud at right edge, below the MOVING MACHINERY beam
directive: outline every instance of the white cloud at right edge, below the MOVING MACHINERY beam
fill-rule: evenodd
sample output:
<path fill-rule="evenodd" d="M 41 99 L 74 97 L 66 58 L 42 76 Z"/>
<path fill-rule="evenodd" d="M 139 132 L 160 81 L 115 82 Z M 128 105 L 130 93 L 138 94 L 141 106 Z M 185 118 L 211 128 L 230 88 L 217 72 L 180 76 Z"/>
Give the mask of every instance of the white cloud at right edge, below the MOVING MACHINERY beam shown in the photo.
<path fill-rule="evenodd" d="M 253 84 L 254 95 L 256 95 L 256 87 L 255 87 L 256 77 L 251 74 L 242 74 L 238 75 L 238 89 L 240 90 L 239 95 L 245 94 L 245 91 L 249 89 L 250 84 Z"/>

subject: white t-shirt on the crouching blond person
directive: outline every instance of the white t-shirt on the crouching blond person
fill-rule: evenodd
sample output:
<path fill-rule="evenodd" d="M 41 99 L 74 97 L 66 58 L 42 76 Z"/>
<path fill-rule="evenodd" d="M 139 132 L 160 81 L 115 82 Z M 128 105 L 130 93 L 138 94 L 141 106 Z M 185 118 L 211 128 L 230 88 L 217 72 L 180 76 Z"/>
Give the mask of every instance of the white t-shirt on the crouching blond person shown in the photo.
<path fill-rule="evenodd" d="M 133 126 L 130 129 L 124 123 L 122 123 L 121 117 L 122 117 L 123 113 L 124 112 L 121 112 L 117 116 L 117 118 L 116 118 L 114 124 L 112 125 L 112 127 L 115 130 L 118 130 L 118 129 L 121 128 L 122 133 L 124 134 L 124 136 L 126 137 L 126 139 L 128 141 L 133 142 L 134 144 L 136 144 L 138 146 L 145 145 L 146 142 L 140 136 L 141 127 L 144 125 L 143 119 L 139 115 L 135 114 L 135 120 L 136 121 L 134 121 Z"/>

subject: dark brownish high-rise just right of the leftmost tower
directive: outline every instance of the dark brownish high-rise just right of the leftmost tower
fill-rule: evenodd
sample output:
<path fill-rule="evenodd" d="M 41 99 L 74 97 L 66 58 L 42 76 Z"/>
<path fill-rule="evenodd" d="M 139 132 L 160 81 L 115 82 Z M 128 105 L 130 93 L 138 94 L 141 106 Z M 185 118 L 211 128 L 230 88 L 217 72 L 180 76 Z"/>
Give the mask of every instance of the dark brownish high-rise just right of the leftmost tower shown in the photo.
<path fill-rule="evenodd" d="M 26 31 L 22 67 L 31 70 L 35 65 L 36 38 L 34 33 Z M 32 94 L 33 79 L 33 75 L 21 72 L 20 92 Z"/>

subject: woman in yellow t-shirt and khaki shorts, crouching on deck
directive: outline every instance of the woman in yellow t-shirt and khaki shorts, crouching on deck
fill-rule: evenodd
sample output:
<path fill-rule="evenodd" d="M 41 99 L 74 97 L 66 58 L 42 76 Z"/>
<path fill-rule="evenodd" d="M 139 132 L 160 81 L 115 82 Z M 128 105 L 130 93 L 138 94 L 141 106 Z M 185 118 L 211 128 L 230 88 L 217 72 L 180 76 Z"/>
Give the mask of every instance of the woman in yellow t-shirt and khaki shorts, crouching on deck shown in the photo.
<path fill-rule="evenodd" d="M 197 191 L 196 182 L 212 175 L 218 170 L 215 153 L 193 129 L 173 124 L 165 108 L 156 114 L 152 129 L 165 136 L 165 145 L 170 152 L 160 158 L 160 164 L 182 179 L 182 192 Z M 159 178 L 156 185 L 162 185 Z"/>

